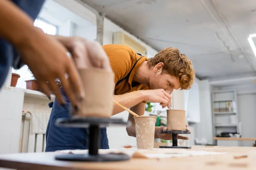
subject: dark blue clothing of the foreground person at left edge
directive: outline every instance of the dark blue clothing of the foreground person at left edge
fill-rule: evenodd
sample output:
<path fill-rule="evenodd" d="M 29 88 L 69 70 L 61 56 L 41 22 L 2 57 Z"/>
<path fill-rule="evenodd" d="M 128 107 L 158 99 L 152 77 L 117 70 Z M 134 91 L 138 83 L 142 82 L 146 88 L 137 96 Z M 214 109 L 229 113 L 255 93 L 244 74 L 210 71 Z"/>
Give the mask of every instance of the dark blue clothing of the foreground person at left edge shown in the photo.
<path fill-rule="evenodd" d="M 44 0 L 11 0 L 17 7 L 28 14 L 32 20 L 38 16 Z M 0 37 L 0 88 L 3 86 L 10 67 L 19 69 L 23 66 L 15 48 Z"/>

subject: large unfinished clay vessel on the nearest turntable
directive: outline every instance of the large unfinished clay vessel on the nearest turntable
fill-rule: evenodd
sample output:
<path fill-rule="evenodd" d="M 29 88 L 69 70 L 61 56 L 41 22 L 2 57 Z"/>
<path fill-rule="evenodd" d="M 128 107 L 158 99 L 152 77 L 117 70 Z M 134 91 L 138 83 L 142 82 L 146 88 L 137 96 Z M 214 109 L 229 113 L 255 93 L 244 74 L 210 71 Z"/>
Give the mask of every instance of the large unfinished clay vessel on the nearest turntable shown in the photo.
<path fill-rule="evenodd" d="M 110 117 L 113 112 L 114 75 L 100 68 L 79 70 L 85 98 L 79 103 L 79 110 L 71 111 L 75 117 Z"/>

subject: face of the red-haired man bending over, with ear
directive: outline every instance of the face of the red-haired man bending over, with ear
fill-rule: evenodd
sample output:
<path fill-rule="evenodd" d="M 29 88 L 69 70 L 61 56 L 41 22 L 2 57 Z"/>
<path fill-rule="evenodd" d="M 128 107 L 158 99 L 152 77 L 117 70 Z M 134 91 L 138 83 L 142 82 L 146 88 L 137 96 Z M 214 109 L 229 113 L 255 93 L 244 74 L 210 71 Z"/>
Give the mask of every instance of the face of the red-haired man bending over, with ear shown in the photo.
<path fill-rule="evenodd" d="M 162 68 L 161 64 L 156 65 L 153 69 L 153 75 L 149 78 L 148 81 L 148 87 L 151 90 L 154 89 L 163 89 L 167 93 L 172 94 L 172 91 L 174 89 L 179 89 L 180 88 L 180 82 L 177 79 L 177 77 L 172 76 L 170 74 L 162 73 Z"/>

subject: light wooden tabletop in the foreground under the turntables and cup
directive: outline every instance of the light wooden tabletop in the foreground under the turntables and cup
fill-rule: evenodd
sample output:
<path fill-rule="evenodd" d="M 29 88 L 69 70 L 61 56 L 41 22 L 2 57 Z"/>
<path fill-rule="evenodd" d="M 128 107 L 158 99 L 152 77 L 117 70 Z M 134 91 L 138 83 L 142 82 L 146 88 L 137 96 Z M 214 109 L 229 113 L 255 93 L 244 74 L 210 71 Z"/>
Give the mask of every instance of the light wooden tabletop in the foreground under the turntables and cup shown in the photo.
<path fill-rule="evenodd" d="M 166 159 L 131 159 L 120 162 L 58 161 L 63 153 L 14 153 L 0 155 L 0 167 L 22 170 L 255 170 L 256 147 L 192 146 L 190 150 L 228 152 L 222 155 Z M 235 159 L 234 156 L 247 155 Z"/>

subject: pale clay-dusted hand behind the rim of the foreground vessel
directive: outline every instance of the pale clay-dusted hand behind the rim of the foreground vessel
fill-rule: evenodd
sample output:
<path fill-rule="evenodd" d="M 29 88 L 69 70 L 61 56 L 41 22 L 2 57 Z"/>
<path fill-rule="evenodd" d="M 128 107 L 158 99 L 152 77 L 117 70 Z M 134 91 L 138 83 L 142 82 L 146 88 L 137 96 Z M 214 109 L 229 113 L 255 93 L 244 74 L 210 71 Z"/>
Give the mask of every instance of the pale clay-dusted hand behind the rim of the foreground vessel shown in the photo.
<path fill-rule="evenodd" d="M 67 48 L 78 69 L 97 67 L 112 71 L 108 56 L 99 42 L 81 37 L 54 37 Z"/>

